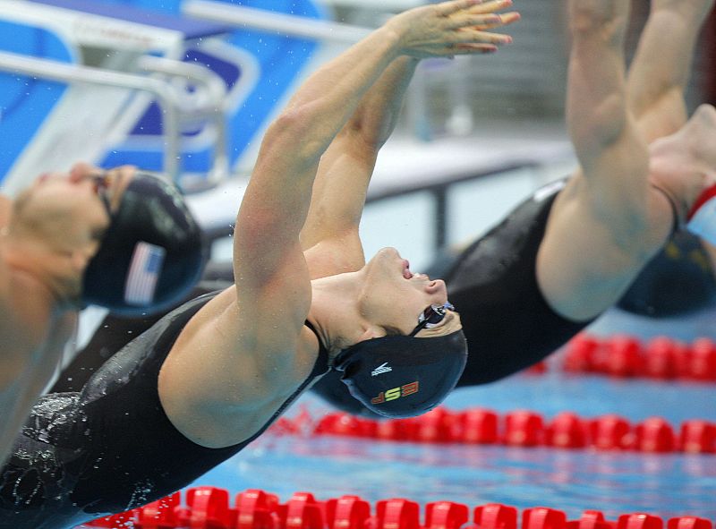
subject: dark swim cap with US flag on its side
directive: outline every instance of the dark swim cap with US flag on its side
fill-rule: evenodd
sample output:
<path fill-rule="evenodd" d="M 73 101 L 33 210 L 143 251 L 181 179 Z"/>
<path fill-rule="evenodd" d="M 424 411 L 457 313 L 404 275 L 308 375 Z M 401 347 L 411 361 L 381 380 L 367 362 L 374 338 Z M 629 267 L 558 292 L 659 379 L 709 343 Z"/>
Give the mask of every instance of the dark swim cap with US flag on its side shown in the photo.
<path fill-rule="evenodd" d="M 161 311 L 199 280 L 200 227 L 173 183 L 137 173 L 84 273 L 81 301 L 115 314 Z"/>

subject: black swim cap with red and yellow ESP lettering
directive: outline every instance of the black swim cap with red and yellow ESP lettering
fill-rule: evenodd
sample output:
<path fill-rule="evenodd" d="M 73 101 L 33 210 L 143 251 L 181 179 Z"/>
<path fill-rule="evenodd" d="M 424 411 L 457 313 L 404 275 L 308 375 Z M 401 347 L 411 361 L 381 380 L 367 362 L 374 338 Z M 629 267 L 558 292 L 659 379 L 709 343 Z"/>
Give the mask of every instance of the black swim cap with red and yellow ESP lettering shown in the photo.
<path fill-rule="evenodd" d="M 439 337 L 365 340 L 337 355 L 334 368 L 354 398 L 387 417 L 429 412 L 455 388 L 467 362 L 462 329 Z"/>

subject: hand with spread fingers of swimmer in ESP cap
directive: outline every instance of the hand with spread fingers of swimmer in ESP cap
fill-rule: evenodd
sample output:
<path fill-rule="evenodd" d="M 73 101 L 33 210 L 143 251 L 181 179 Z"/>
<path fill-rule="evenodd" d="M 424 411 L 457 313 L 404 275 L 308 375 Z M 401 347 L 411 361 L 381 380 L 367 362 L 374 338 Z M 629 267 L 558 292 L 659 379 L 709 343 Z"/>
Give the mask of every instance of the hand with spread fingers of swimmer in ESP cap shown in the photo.
<path fill-rule="evenodd" d="M 519 20 L 516 12 L 498 13 L 512 0 L 453 0 L 417 7 L 388 21 L 396 32 L 402 53 L 413 57 L 439 57 L 490 53 L 509 44 L 509 35 L 490 30 Z"/>

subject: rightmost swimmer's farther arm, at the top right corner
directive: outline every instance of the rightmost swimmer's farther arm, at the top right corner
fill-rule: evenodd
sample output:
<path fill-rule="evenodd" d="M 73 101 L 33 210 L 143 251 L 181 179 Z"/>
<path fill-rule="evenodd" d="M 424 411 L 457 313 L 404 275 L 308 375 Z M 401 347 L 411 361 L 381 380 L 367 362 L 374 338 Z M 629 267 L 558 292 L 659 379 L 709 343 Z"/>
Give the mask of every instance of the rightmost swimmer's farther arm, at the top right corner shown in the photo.
<path fill-rule="evenodd" d="M 652 0 L 632 64 L 629 107 L 647 143 L 686 123 L 684 91 L 699 30 L 714 0 Z"/>

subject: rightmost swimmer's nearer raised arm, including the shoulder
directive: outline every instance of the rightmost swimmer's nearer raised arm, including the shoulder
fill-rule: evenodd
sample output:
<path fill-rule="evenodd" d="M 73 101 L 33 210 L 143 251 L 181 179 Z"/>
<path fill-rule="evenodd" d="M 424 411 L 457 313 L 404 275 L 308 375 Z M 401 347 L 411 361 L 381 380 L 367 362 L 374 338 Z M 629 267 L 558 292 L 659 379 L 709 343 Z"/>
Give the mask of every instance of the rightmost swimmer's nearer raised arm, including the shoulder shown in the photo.
<path fill-rule="evenodd" d="M 624 292 L 672 224 L 626 95 L 629 3 L 570 0 L 567 127 L 580 170 L 550 211 L 537 279 L 551 307 L 589 320 Z"/>

